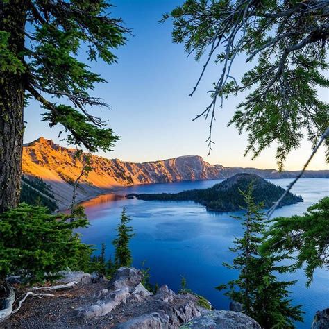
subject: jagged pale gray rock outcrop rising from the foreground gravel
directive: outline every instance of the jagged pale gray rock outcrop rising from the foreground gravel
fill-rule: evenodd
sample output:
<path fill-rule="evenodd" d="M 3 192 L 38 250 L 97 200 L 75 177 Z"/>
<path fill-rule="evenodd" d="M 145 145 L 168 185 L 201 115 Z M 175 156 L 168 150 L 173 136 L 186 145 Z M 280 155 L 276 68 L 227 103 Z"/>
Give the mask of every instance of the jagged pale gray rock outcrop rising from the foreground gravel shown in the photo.
<path fill-rule="evenodd" d="M 108 283 L 108 289 L 96 294 L 96 303 L 76 309 L 76 317 L 103 317 L 112 314 L 110 312 L 120 305 L 132 314 L 139 314 L 120 323 L 117 328 L 174 329 L 201 315 L 198 299 L 193 294 L 175 294 L 167 285 L 153 294 L 142 285 L 142 278 L 140 270 L 121 267 Z"/>

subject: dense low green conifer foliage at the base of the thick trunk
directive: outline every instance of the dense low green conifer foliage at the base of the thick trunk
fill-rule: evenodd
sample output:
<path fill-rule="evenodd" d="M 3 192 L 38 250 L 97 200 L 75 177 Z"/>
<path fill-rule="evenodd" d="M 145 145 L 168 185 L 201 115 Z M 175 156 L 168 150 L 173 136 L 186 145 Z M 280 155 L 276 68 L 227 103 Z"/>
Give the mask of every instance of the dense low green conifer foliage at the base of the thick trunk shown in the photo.
<path fill-rule="evenodd" d="M 69 221 L 64 214 L 26 205 L 0 214 L 0 279 L 19 274 L 29 282 L 51 278 L 63 269 L 86 270 L 92 249 L 81 243 L 76 228 L 84 217 Z"/>

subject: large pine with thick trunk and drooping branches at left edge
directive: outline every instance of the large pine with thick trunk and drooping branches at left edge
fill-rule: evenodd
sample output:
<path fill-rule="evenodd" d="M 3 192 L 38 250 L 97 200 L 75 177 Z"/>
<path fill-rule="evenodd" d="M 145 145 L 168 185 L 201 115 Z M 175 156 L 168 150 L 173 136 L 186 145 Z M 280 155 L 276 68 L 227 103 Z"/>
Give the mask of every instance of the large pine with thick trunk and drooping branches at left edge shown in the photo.
<path fill-rule="evenodd" d="M 22 174 L 24 106 L 35 99 L 49 126 L 62 126 L 68 144 L 110 150 L 118 137 L 90 113 L 107 106 L 91 96 L 106 82 L 88 62 L 117 61 L 126 42 L 121 19 L 107 0 L 0 1 L 0 212 L 17 207 Z"/>

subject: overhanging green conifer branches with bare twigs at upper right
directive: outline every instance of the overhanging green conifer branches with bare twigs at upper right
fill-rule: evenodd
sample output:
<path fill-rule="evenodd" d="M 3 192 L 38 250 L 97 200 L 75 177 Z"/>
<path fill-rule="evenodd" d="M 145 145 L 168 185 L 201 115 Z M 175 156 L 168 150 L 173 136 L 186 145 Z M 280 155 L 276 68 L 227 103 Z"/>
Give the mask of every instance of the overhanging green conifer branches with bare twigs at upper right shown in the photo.
<path fill-rule="evenodd" d="M 329 126 L 328 103 L 317 90 L 328 88 L 326 1 L 186 0 L 164 15 L 172 19 L 173 41 L 200 60 L 208 55 L 222 70 L 210 90 L 210 104 L 197 117 L 212 123 L 223 99 L 247 92 L 230 121 L 239 133 L 248 132 L 246 153 L 257 157 L 276 143 L 278 166 L 300 146 L 307 134 L 313 146 Z M 233 76 L 238 57 L 250 62 L 244 75 Z M 242 72 L 243 73 L 243 72 Z M 327 141 L 327 146 L 328 146 Z"/>

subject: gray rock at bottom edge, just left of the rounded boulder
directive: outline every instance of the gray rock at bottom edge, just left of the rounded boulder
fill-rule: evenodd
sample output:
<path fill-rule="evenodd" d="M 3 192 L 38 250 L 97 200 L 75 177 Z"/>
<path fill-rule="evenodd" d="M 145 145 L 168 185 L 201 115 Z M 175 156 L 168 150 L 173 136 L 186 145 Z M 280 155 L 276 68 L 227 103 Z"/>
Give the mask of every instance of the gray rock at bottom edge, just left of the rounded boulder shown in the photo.
<path fill-rule="evenodd" d="M 169 317 L 162 310 L 149 314 L 143 314 L 140 317 L 130 319 L 120 323 L 117 329 L 165 329 L 169 326 Z"/>

